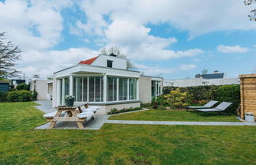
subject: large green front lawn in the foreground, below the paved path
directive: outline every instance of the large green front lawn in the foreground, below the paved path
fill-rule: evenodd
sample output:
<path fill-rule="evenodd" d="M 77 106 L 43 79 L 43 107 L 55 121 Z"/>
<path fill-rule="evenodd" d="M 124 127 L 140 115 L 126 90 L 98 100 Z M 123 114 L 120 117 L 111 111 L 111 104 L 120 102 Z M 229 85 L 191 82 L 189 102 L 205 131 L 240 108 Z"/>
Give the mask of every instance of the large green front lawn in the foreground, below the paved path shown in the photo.
<path fill-rule="evenodd" d="M 0 164 L 254 164 L 254 126 L 105 124 L 34 130 L 35 103 L 0 103 Z"/>

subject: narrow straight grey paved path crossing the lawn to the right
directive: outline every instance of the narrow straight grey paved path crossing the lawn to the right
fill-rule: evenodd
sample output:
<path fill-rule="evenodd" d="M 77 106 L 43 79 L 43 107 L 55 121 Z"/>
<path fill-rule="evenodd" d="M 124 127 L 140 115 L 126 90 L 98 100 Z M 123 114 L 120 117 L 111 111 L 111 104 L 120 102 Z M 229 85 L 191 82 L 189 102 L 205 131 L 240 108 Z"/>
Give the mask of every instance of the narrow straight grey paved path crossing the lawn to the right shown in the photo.
<path fill-rule="evenodd" d="M 137 121 L 107 120 L 112 124 L 149 124 L 149 125 L 195 125 L 195 126 L 256 126 L 255 122 L 168 122 L 168 121 Z"/>

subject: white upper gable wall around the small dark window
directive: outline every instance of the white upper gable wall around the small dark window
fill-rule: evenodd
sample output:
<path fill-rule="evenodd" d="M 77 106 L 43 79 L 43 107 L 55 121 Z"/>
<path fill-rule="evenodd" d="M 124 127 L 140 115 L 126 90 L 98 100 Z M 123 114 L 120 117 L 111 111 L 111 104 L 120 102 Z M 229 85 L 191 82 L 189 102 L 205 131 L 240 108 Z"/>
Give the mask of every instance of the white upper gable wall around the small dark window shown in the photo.
<path fill-rule="evenodd" d="M 92 66 L 107 67 L 107 60 L 113 61 L 113 68 L 115 69 L 126 69 L 126 59 L 116 58 L 110 55 L 99 55 L 99 57 L 92 62 Z"/>

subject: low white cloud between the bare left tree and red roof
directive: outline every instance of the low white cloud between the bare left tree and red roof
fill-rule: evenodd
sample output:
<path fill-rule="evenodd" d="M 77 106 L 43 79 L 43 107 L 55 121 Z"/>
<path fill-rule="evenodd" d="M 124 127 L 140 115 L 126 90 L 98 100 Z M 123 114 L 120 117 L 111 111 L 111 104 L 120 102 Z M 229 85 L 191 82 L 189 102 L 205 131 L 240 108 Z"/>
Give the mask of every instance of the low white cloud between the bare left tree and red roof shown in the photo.
<path fill-rule="evenodd" d="M 60 69 L 74 66 L 88 58 L 95 57 L 97 51 L 86 48 L 70 48 L 66 51 L 28 51 L 22 56 L 18 70 L 27 75 L 39 74 L 47 77 Z"/>

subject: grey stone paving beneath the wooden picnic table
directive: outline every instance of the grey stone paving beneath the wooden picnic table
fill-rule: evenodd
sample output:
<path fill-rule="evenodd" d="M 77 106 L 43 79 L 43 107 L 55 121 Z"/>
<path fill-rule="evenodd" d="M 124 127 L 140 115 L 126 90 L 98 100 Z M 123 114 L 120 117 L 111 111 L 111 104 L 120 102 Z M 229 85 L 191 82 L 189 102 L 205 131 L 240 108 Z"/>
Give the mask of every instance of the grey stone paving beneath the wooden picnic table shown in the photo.
<path fill-rule="evenodd" d="M 84 122 L 85 129 L 100 129 L 101 126 L 107 121 L 109 115 L 96 114 L 94 120 Z M 49 129 L 50 122 L 43 126 L 38 126 L 36 129 Z M 78 129 L 76 122 L 57 122 L 54 129 Z"/>

